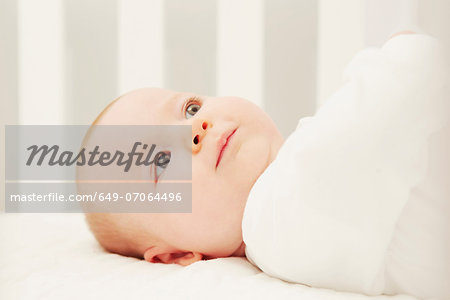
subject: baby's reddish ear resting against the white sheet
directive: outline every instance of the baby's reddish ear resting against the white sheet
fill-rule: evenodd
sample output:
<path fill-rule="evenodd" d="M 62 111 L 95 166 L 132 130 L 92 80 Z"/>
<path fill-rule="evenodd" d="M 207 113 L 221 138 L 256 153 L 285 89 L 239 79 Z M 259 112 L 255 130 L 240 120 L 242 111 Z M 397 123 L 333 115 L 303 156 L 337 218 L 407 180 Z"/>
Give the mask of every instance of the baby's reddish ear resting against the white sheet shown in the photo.
<path fill-rule="evenodd" d="M 176 249 L 154 246 L 145 250 L 144 259 L 151 263 L 179 264 L 188 266 L 202 260 L 203 254 L 192 251 L 179 251 Z"/>

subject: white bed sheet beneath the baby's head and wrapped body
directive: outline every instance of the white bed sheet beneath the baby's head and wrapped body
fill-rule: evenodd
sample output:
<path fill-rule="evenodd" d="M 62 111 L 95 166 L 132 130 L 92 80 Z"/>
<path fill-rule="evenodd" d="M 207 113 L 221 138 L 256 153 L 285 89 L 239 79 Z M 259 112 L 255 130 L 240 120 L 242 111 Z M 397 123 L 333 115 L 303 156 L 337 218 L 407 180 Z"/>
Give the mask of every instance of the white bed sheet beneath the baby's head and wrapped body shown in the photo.
<path fill-rule="evenodd" d="M 415 299 L 291 284 L 242 258 L 180 267 L 106 253 L 82 214 L 1 214 L 0 240 L 0 299 Z"/>

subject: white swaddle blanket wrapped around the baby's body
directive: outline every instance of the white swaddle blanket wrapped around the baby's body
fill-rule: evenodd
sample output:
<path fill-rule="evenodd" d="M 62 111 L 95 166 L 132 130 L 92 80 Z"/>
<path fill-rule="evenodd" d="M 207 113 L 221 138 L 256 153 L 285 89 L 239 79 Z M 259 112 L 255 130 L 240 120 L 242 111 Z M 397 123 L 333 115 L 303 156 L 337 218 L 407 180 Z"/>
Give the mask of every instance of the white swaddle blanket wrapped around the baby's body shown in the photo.
<path fill-rule="evenodd" d="M 250 261 L 314 287 L 450 298 L 445 56 L 411 34 L 352 60 L 255 183 L 242 223 Z"/>

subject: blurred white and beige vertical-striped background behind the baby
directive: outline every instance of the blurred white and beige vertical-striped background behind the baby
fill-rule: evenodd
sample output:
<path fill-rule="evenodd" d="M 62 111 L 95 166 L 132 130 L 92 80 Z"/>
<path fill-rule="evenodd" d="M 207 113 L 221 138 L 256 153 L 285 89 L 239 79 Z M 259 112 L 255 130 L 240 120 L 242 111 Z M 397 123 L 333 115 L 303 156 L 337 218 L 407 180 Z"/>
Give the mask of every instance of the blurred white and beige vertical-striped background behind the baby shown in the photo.
<path fill-rule="evenodd" d="M 0 121 L 90 124 L 151 86 L 247 98 L 288 136 L 402 29 L 450 44 L 450 1 L 0 0 Z"/>

